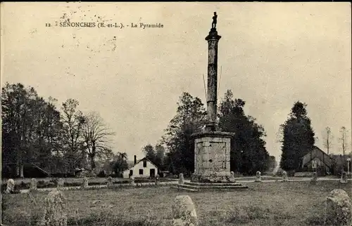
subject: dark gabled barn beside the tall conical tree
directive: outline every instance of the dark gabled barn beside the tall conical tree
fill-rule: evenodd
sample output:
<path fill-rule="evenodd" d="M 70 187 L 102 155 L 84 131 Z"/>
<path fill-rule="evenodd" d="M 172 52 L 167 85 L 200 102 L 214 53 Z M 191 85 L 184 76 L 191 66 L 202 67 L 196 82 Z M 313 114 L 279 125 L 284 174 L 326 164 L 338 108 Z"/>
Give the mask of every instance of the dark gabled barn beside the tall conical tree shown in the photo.
<path fill-rule="evenodd" d="M 319 147 L 313 146 L 313 149 L 302 158 L 304 171 L 316 171 L 318 175 L 327 175 L 332 173 L 332 168 L 332 158 Z"/>

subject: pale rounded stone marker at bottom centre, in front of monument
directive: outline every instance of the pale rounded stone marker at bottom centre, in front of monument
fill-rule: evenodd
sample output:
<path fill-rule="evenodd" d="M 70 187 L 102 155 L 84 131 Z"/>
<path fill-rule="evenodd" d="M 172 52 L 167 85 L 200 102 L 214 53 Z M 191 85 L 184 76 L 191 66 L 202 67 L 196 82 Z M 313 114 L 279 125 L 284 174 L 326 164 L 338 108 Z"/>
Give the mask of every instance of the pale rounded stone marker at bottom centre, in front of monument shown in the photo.
<path fill-rule="evenodd" d="M 179 195 L 172 205 L 173 226 L 198 226 L 196 207 L 188 195 Z"/>

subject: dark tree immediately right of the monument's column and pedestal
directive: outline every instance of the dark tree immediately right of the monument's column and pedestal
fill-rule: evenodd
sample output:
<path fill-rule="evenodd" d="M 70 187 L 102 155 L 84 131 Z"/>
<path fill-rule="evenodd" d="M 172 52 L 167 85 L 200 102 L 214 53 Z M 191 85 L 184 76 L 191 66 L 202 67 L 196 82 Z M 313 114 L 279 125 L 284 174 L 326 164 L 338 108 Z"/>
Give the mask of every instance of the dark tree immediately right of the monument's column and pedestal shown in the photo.
<path fill-rule="evenodd" d="M 234 133 L 231 143 L 230 168 L 232 171 L 253 175 L 265 171 L 269 154 L 265 149 L 265 131 L 256 119 L 244 114 L 246 102 L 234 99 L 227 90 L 219 106 L 219 127 Z"/>

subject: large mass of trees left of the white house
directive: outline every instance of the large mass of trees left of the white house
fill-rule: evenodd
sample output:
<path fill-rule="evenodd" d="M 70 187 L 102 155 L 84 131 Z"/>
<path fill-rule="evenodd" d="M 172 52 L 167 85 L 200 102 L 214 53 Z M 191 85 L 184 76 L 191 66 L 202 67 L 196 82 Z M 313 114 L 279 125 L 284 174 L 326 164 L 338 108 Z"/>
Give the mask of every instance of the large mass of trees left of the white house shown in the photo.
<path fill-rule="evenodd" d="M 79 102 L 40 97 L 32 87 L 6 83 L 1 88 L 2 173 L 23 177 L 31 164 L 44 172 L 75 174 L 77 168 L 96 167 L 112 155 L 114 133 L 97 112 L 83 114 Z"/>

